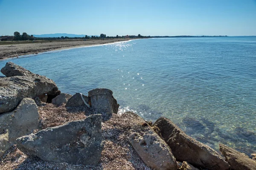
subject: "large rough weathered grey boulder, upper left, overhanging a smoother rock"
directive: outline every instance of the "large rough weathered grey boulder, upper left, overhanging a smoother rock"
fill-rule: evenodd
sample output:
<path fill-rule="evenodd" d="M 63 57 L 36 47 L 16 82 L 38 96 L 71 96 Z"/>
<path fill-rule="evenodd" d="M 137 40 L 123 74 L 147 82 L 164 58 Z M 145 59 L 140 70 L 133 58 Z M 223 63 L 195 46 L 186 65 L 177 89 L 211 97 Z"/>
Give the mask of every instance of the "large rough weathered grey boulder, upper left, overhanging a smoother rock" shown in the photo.
<path fill-rule="evenodd" d="M 15 75 L 15 70 L 11 72 L 10 65 L 12 62 L 7 62 L 8 71 L 4 72 L 6 76 Z M 13 69 L 20 68 L 26 76 L 13 76 L 0 78 L 0 113 L 12 111 L 17 107 L 19 102 L 26 97 L 34 98 L 42 94 L 47 94 L 49 91 L 58 91 L 55 82 L 47 77 L 33 74 L 26 69 L 15 65 Z M 18 72 L 21 74 L 21 72 Z M 30 74 L 31 73 L 31 74 Z"/>

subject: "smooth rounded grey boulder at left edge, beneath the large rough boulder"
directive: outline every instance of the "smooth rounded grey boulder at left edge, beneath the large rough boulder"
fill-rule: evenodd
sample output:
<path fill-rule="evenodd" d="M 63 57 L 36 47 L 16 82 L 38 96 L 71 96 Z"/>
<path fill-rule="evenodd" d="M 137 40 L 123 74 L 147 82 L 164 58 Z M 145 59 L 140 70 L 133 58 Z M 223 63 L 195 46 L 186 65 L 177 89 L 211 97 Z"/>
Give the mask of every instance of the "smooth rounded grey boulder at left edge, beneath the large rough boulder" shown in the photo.
<path fill-rule="evenodd" d="M 18 137 L 28 135 L 39 125 L 38 107 L 35 101 L 24 98 L 17 108 L 0 115 L 0 156 L 16 142 Z"/>

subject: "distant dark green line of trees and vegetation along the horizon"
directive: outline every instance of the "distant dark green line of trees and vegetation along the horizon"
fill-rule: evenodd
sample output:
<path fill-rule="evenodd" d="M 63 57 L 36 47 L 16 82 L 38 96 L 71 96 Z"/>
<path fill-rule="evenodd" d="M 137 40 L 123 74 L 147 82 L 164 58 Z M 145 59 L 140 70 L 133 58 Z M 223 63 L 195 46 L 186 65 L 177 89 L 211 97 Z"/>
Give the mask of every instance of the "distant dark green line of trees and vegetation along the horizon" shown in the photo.
<path fill-rule="evenodd" d="M 100 36 L 87 36 L 84 37 L 34 37 L 33 35 L 29 35 L 26 32 L 23 32 L 21 35 L 18 31 L 15 31 L 13 36 L 2 36 L 1 39 L 8 40 L 8 41 L 26 41 L 26 40 L 67 40 L 67 39 L 108 39 L 108 38 L 165 38 L 165 37 L 227 37 L 226 36 L 143 36 L 143 35 L 116 35 L 116 36 L 106 36 L 106 34 L 100 34 Z"/>

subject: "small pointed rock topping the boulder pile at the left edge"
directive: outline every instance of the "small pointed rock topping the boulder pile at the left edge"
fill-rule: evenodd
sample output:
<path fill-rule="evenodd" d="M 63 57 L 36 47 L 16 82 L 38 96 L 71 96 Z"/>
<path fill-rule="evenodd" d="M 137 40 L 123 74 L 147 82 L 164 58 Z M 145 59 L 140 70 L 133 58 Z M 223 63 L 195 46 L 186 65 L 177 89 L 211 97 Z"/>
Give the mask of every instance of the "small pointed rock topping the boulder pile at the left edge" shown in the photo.
<path fill-rule="evenodd" d="M 33 73 L 26 70 L 23 67 L 20 67 L 19 65 L 14 64 L 13 62 L 7 62 L 6 65 L 1 69 L 1 72 L 6 77 L 12 77 L 12 76 L 30 76 Z"/>

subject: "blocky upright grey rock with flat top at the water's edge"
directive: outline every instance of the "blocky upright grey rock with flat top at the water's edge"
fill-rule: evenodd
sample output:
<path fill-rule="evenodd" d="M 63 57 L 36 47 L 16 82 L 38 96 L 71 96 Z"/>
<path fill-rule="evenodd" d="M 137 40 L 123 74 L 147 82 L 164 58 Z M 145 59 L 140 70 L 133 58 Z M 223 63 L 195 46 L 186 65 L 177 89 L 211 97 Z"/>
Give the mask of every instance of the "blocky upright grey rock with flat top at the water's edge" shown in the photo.
<path fill-rule="evenodd" d="M 113 92 L 106 88 L 96 88 L 88 92 L 92 108 L 107 116 L 118 112 L 119 105 L 112 96 Z"/>

